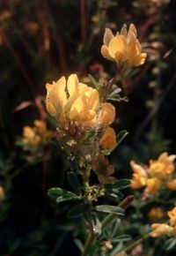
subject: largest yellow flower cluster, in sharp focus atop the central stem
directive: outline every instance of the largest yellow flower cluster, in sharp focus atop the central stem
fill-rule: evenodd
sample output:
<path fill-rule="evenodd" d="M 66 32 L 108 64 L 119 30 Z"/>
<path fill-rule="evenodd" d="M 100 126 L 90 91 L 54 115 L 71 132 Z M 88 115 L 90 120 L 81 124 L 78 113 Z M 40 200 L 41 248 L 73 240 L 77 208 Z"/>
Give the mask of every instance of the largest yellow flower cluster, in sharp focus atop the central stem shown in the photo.
<path fill-rule="evenodd" d="M 100 102 L 97 89 L 80 83 L 77 74 L 71 74 L 67 81 L 62 77 L 46 87 L 48 113 L 56 118 L 65 139 L 72 133 L 75 140 L 84 142 L 86 132 L 99 130 L 99 145 L 103 148 L 115 147 L 115 132 L 109 127 L 114 122 L 115 109 L 109 102 Z"/>

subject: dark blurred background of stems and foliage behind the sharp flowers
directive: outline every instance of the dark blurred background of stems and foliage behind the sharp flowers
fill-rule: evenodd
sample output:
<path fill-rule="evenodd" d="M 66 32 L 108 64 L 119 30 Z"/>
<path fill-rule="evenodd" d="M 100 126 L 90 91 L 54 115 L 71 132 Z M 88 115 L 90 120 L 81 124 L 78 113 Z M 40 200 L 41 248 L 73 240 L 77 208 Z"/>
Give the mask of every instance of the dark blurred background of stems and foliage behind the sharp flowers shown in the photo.
<path fill-rule="evenodd" d="M 175 13 L 174 0 L 0 1 L 1 256 L 78 255 L 78 223 L 47 195 L 70 189 L 70 162 L 52 139 L 45 84 L 73 72 L 85 83 L 89 73 L 111 79 L 115 65 L 100 54 L 106 27 L 134 23 L 148 54 L 117 79 L 128 102 L 116 104 L 114 129 L 129 134 L 110 157 L 116 176 L 132 176 L 131 159 L 176 152 Z"/>

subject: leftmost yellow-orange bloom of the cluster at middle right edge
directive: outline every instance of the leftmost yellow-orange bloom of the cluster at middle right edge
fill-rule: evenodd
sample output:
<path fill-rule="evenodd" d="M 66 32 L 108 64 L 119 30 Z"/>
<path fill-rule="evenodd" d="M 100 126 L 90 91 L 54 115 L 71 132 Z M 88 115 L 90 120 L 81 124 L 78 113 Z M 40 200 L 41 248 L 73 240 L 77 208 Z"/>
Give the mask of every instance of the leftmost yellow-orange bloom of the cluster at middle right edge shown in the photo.
<path fill-rule="evenodd" d="M 146 185 L 147 173 L 145 169 L 139 164 L 136 164 L 135 161 L 130 161 L 131 169 L 133 169 L 134 174 L 131 180 L 131 187 L 133 189 L 138 189 Z"/>

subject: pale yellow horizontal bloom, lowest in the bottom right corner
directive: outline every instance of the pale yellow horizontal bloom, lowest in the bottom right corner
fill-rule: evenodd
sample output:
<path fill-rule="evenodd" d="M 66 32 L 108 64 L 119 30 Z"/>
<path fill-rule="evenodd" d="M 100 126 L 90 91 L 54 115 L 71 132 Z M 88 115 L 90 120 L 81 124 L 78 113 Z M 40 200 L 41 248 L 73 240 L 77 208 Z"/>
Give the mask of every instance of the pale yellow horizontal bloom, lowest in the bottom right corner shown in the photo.
<path fill-rule="evenodd" d="M 165 223 L 153 223 L 151 229 L 153 230 L 150 232 L 151 237 L 161 237 L 173 233 L 173 228 Z"/>

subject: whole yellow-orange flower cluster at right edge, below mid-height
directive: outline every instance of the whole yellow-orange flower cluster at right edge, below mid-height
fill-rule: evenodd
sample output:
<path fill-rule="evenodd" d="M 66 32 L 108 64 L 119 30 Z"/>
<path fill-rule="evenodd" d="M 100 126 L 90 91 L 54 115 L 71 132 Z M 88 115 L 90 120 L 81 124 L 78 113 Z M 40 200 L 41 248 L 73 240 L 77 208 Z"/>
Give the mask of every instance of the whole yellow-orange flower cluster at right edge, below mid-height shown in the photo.
<path fill-rule="evenodd" d="M 158 160 L 150 160 L 149 166 L 141 166 L 135 161 L 130 162 L 133 169 L 131 187 L 140 189 L 145 187 L 143 197 L 156 194 L 162 187 L 176 190 L 176 179 L 173 178 L 174 163 L 176 155 L 168 155 L 166 152 L 160 154 Z"/>

